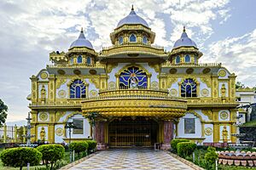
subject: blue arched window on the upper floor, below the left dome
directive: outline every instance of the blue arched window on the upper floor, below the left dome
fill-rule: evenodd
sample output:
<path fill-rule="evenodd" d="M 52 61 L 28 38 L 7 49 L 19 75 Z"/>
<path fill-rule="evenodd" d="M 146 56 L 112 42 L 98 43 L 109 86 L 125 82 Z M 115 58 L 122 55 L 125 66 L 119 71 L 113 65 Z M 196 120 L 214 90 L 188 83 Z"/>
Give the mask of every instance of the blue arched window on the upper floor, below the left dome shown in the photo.
<path fill-rule="evenodd" d="M 71 99 L 79 99 L 86 97 L 86 89 L 84 82 L 77 79 L 72 82 L 70 85 L 70 98 Z"/>

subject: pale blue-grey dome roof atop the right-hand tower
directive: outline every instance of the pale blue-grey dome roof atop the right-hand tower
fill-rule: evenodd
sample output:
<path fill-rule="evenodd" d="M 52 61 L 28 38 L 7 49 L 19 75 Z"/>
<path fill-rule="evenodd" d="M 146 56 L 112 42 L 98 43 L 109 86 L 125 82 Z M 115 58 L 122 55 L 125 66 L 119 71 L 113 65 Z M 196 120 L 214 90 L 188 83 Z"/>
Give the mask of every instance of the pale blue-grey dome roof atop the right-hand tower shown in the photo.
<path fill-rule="evenodd" d="M 195 47 L 195 48 L 197 48 L 195 42 L 188 37 L 185 27 L 183 28 L 182 36 L 174 43 L 174 46 L 173 46 L 173 48 L 180 48 L 180 47 Z"/>

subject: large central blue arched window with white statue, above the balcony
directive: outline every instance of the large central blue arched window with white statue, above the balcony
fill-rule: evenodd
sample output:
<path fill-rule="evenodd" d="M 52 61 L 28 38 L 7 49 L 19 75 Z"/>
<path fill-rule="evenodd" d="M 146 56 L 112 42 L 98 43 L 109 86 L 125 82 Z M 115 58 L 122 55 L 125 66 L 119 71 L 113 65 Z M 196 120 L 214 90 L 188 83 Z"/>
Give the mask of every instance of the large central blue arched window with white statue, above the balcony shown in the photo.
<path fill-rule="evenodd" d="M 148 77 L 146 72 L 136 66 L 131 66 L 120 73 L 120 88 L 147 88 Z"/>

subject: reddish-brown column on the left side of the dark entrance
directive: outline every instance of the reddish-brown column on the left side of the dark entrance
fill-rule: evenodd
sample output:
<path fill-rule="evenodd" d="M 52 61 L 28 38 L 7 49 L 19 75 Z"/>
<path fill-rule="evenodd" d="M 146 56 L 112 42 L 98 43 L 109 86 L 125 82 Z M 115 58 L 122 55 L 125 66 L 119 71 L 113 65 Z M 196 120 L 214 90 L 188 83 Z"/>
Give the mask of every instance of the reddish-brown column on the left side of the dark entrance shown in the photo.
<path fill-rule="evenodd" d="M 106 150 L 104 124 L 104 122 L 96 122 L 95 125 L 97 150 Z"/>

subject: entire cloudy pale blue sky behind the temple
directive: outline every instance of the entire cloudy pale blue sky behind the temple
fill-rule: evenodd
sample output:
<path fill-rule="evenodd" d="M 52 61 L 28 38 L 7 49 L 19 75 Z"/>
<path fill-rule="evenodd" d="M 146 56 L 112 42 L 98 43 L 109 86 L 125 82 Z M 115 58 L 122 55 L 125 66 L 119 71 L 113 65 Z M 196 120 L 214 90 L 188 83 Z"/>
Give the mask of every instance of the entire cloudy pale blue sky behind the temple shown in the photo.
<path fill-rule="evenodd" d="M 156 33 L 155 44 L 172 49 L 186 26 L 204 53 L 201 62 L 223 63 L 246 86 L 256 84 L 254 0 L 0 0 L 0 99 L 8 122 L 24 120 L 29 77 L 49 63 L 53 50 L 67 51 L 84 27 L 97 51 L 109 33 L 135 11 Z"/>

